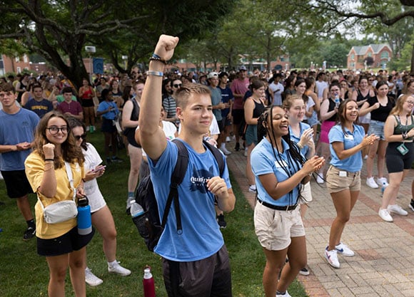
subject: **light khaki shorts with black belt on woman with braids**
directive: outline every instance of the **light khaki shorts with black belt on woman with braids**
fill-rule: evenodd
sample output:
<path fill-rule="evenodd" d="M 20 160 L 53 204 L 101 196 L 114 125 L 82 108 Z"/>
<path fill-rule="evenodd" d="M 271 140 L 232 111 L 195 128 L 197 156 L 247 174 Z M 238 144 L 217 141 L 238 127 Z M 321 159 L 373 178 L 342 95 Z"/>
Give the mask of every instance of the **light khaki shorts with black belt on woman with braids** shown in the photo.
<path fill-rule="evenodd" d="M 299 208 L 284 211 L 256 203 L 254 226 L 258 241 L 263 248 L 269 251 L 281 251 L 291 244 L 291 237 L 305 236 Z"/>

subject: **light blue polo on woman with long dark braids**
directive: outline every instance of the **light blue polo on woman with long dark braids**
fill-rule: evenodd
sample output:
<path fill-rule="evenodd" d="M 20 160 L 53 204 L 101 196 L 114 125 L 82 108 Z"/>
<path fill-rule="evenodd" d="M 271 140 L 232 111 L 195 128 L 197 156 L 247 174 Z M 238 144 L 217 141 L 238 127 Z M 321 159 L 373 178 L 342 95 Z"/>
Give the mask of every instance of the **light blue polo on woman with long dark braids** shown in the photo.
<path fill-rule="evenodd" d="M 286 143 L 285 140 L 282 140 L 282 145 L 283 152 L 278 153 L 276 148 L 273 148 L 271 143 L 268 142 L 266 138 L 263 138 L 251 152 L 251 169 L 253 170 L 256 179 L 258 198 L 269 204 L 285 207 L 297 203 L 298 187 L 293 188 L 291 193 L 285 194 L 281 198 L 275 200 L 268 194 L 268 192 L 266 192 L 266 189 L 259 179 L 260 175 L 272 173 L 276 175 L 278 182 L 283 182 L 289 178 L 289 175 L 285 170 L 290 172 L 290 176 L 298 172 L 298 170 L 301 170 L 302 166 L 296 164 L 291 157 L 288 157 L 288 143 Z"/>

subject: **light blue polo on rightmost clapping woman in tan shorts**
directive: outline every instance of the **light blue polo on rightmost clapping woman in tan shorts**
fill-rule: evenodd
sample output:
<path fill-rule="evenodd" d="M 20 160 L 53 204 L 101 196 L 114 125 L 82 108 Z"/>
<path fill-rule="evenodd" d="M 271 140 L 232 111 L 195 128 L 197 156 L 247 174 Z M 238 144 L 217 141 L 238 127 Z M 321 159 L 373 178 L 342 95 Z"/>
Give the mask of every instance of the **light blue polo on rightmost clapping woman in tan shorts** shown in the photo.
<path fill-rule="evenodd" d="M 348 172 L 360 171 L 363 165 L 361 151 L 356 152 L 354 155 L 347 157 L 346 159 L 339 160 L 335 150 L 333 150 L 332 142 L 343 142 L 343 149 L 349 150 L 350 148 L 359 145 L 364 136 L 365 131 L 360 125 L 353 125 L 353 132 L 350 132 L 350 130 L 345 128 L 345 134 L 340 125 L 333 126 L 328 134 L 331 157 L 330 165 Z"/>

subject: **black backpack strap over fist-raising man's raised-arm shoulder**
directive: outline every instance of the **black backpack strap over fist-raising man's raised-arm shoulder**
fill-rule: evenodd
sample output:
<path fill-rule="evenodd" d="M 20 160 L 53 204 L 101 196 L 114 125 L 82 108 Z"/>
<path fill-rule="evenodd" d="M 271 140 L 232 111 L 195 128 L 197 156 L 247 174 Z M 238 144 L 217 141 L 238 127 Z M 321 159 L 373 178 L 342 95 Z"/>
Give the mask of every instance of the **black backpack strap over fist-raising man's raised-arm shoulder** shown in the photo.
<path fill-rule="evenodd" d="M 184 175 L 186 174 L 188 166 L 188 150 L 186 146 L 180 140 L 173 140 L 173 142 L 178 147 L 178 158 L 176 167 L 174 167 L 173 174 L 171 175 L 171 185 L 170 193 L 168 194 L 168 199 L 166 202 L 166 208 L 164 209 L 163 220 L 161 226 L 164 228 L 166 226 L 168 213 L 171 209 L 171 204 L 174 202 L 174 210 L 176 211 L 177 219 L 177 233 L 183 233 L 183 227 L 181 226 L 181 212 L 180 212 L 180 203 L 178 200 L 178 185 L 183 182 Z"/>

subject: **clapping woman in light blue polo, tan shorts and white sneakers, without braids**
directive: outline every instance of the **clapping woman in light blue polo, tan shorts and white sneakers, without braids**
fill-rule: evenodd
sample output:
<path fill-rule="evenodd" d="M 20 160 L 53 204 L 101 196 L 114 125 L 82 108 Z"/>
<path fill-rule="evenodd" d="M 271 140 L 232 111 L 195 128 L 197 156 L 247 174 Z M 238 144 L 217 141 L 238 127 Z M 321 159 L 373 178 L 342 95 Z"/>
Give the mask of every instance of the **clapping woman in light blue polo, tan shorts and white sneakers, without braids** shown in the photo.
<path fill-rule="evenodd" d="M 325 259 L 330 266 L 339 268 L 338 253 L 354 256 L 355 253 L 340 241 L 346 222 L 349 221 L 360 192 L 360 170 L 363 165 L 362 150 L 373 145 L 378 137 L 365 135 L 358 120 L 358 103 L 347 99 L 338 108 L 338 122 L 328 134 L 330 143 L 330 167 L 326 173 L 328 192 L 336 209 L 336 217 L 330 226 L 329 244 Z"/>

